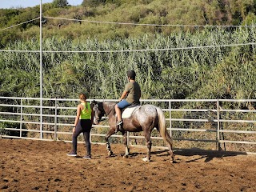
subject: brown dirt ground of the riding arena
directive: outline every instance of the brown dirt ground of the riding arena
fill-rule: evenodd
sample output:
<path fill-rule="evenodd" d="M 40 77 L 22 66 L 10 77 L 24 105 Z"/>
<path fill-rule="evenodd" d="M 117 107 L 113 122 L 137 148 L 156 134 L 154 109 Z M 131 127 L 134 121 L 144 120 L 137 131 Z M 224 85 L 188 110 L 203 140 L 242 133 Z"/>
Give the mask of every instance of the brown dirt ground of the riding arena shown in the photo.
<path fill-rule="evenodd" d="M 92 145 L 93 159 L 68 157 L 71 143 L 0 139 L 0 191 L 256 191 L 256 156 L 218 154 L 206 150 L 176 150 L 170 163 L 166 150 L 113 144 Z"/>

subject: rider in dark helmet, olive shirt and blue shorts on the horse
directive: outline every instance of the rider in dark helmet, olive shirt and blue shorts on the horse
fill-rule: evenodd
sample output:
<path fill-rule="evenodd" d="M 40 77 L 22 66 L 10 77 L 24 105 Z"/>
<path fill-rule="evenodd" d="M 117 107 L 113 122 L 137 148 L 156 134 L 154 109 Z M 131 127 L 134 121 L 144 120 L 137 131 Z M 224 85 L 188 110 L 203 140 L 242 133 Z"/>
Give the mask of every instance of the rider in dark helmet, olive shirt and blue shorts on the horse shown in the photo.
<path fill-rule="evenodd" d="M 141 98 L 141 88 L 138 82 L 135 82 L 136 74 L 134 70 L 127 72 L 128 83 L 125 86 L 125 90 L 122 92 L 121 98 L 119 98 L 118 104 L 114 106 L 115 112 L 118 115 L 117 126 L 122 126 L 121 110 L 131 104 L 140 105 L 139 98 Z"/>

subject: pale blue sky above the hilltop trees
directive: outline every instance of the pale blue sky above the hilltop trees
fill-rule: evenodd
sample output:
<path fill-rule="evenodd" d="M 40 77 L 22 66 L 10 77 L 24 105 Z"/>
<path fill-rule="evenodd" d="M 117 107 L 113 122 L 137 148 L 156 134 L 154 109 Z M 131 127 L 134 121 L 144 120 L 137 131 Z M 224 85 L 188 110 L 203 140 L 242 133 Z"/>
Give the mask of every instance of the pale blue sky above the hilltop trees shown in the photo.
<path fill-rule="evenodd" d="M 53 2 L 54 0 L 42 0 L 43 3 Z M 71 6 L 78 6 L 82 4 L 82 0 L 67 0 Z M 40 5 L 40 0 L 0 0 L 0 9 L 8 8 L 26 8 L 29 6 L 38 6 Z"/>

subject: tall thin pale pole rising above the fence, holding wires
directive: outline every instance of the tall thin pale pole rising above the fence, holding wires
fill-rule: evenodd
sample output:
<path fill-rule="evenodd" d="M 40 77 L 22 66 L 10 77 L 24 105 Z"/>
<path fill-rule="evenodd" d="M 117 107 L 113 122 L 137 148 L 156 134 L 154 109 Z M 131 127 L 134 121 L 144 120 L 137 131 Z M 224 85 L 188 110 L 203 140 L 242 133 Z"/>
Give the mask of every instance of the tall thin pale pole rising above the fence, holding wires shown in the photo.
<path fill-rule="evenodd" d="M 42 0 L 40 0 L 40 138 L 42 139 Z"/>

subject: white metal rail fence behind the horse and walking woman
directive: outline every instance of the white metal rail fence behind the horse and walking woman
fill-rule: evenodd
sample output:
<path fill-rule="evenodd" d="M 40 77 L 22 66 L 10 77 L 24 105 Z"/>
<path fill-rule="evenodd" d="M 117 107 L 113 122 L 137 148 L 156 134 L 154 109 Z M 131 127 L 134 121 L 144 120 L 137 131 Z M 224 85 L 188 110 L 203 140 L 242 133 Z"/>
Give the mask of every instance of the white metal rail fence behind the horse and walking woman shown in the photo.
<path fill-rule="evenodd" d="M 256 154 L 256 100 L 142 99 L 141 102 L 162 108 L 175 148 Z M 0 135 L 70 142 L 77 105 L 78 99 L 0 97 Z M 108 127 L 107 122 L 94 126 L 90 141 L 105 143 Z M 151 138 L 154 146 L 165 146 L 156 130 Z M 78 139 L 82 142 L 82 137 Z M 110 142 L 121 140 L 121 134 L 114 134 Z M 128 141 L 132 146 L 145 146 L 142 132 L 129 133 Z"/>

